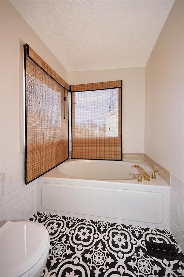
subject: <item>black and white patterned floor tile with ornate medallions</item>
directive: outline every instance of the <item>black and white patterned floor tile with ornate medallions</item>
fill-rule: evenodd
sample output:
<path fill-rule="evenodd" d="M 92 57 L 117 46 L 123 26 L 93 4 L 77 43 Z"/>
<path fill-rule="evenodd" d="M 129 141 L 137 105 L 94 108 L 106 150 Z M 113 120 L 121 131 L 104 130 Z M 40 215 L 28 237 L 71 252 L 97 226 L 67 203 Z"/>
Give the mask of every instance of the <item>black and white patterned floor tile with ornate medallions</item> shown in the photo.
<path fill-rule="evenodd" d="M 51 240 L 41 277 L 184 276 L 184 260 L 158 259 L 147 253 L 145 241 L 177 246 L 168 230 L 43 212 L 30 220 L 43 224 Z"/>

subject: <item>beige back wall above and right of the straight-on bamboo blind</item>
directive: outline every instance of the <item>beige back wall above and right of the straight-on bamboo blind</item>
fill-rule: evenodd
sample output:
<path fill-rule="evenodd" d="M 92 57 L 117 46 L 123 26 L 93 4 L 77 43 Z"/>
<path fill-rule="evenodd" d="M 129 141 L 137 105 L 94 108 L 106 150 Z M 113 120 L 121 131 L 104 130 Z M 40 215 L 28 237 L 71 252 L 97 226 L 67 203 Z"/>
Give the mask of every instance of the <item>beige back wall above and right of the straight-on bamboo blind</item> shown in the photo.
<path fill-rule="evenodd" d="M 123 152 L 144 153 L 145 68 L 68 72 L 70 85 L 122 80 Z"/>

